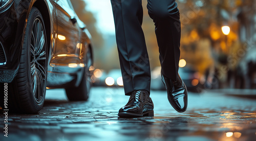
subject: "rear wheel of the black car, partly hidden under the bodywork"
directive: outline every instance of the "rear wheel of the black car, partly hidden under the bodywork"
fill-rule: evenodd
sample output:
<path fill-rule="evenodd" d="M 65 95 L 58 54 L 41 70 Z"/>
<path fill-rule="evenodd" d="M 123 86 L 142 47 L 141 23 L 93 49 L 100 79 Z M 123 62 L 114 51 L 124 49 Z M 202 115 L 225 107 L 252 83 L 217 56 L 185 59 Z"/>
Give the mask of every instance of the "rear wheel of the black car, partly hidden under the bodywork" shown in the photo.
<path fill-rule="evenodd" d="M 93 65 L 92 54 L 90 47 L 86 55 L 86 68 L 83 72 L 82 80 L 78 87 L 66 88 L 66 94 L 70 101 L 86 101 L 89 98 L 92 87 L 90 66 Z"/>

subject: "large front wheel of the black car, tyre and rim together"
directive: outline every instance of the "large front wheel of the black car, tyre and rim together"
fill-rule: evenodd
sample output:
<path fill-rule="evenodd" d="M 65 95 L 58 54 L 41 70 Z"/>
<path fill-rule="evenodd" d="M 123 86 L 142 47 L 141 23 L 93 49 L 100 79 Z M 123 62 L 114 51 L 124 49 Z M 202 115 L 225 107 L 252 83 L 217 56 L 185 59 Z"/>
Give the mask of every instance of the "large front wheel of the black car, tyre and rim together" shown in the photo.
<path fill-rule="evenodd" d="M 47 79 L 47 40 L 41 13 L 32 7 L 26 26 L 17 76 L 11 83 L 10 108 L 27 114 L 43 106 Z M 11 89 L 10 87 L 10 89 Z"/>

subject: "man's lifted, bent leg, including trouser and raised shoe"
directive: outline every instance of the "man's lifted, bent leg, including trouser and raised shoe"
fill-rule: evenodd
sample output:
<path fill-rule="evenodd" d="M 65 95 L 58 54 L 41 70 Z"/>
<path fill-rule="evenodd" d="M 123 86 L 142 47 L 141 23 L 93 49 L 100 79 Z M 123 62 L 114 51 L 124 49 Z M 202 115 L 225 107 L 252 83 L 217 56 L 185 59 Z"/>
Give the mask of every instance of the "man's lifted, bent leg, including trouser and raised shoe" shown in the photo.
<path fill-rule="evenodd" d="M 155 32 L 162 66 L 162 80 L 170 104 L 179 112 L 187 108 L 187 89 L 178 74 L 180 60 L 180 13 L 175 0 L 147 0 L 148 14 Z"/>

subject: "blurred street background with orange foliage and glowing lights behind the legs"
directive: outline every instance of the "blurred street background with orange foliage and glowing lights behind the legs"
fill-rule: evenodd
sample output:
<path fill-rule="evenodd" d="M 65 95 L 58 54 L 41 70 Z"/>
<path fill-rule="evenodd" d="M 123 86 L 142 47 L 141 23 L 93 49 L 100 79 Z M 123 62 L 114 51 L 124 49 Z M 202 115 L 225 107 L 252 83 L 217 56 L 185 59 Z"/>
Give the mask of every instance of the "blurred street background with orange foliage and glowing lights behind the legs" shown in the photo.
<path fill-rule="evenodd" d="M 122 86 L 110 0 L 71 0 L 94 45 L 94 86 Z M 179 73 L 189 90 L 256 88 L 256 0 L 177 0 L 182 23 Z M 164 90 L 155 26 L 144 8 L 152 89 Z"/>

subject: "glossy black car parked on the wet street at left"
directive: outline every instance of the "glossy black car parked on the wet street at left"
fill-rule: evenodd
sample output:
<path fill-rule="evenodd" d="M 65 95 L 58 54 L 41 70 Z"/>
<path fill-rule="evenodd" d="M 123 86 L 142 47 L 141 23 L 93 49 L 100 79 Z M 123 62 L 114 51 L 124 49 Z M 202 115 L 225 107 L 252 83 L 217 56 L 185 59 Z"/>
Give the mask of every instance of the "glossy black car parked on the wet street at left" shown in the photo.
<path fill-rule="evenodd" d="M 91 36 L 70 0 L 0 0 L 0 19 L 2 108 L 36 113 L 52 88 L 88 99 Z"/>

